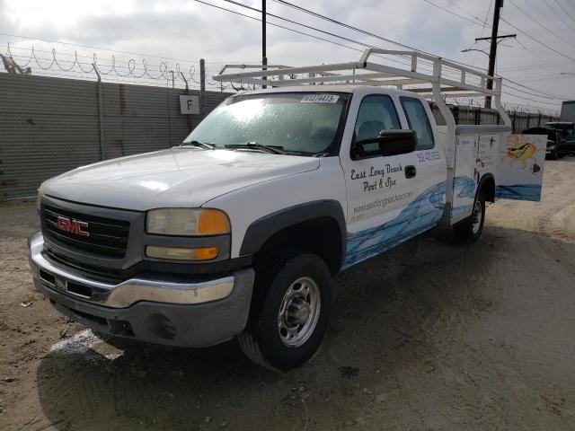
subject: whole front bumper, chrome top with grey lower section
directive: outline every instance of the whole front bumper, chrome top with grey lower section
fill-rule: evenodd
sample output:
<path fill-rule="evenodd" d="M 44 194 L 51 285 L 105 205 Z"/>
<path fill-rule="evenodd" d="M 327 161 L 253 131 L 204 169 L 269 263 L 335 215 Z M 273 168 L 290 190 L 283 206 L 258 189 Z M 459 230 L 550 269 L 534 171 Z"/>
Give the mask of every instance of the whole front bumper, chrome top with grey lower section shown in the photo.
<path fill-rule="evenodd" d="M 157 277 L 112 284 L 54 265 L 37 233 L 28 240 L 34 285 L 58 311 L 88 328 L 180 347 L 206 347 L 240 333 L 252 300 L 252 268 L 198 283 Z"/>

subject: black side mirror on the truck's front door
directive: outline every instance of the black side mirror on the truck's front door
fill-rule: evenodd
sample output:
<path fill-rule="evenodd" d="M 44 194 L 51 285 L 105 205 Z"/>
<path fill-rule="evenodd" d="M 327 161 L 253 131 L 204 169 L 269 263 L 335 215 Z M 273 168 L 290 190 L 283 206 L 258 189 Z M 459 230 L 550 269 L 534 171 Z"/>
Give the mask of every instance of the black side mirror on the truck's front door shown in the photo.
<path fill-rule="evenodd" d="M 382 130 L 379 136 L 351 144 L 351 160 L 381 155 L 407 154 L 415 151 L 417 135 L 413 130 Z"/>

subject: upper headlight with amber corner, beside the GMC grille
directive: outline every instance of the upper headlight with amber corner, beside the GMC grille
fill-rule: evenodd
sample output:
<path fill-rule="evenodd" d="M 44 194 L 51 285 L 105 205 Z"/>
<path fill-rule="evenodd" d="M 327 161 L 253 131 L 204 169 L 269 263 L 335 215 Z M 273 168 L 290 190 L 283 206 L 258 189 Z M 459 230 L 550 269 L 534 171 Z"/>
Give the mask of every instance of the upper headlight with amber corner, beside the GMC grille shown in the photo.
<path fill-rule="evenodd" d="M 201 236 L 230 233 L 230 221 L 219 209 L 160 208 L 147 213 L 146 232 Z"/>

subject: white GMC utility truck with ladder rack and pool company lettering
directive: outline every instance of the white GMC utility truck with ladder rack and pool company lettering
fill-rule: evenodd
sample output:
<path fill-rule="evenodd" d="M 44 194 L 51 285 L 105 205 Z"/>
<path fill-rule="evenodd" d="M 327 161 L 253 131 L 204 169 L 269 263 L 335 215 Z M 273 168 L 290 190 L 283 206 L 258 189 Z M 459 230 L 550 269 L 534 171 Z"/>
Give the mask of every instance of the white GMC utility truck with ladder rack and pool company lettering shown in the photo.
<path fill-rule="evenodd" d="M 237 337 L 254 362 L 288 370 L 323 339 L 333 274 L 438 225 L 475 242 L 486 201 L 538 200 L 545 142 L 509 135 L 499 78 L 464 69 L 454 83 L 441 69 L 458 65 L 419 53 L 400 74 L 373 53 L 217 75 L 273 88 L 228 98 L 178 147 L 45 181 L 35 286 L 111 336 L 180 347 Z M 417 71 L 421 59 L 433 75 Z M 431 86 L 389 88 L 420 83 Z M 456 125 L 440 96 L 451 87 L 493 97 L 507 125 Z"/>

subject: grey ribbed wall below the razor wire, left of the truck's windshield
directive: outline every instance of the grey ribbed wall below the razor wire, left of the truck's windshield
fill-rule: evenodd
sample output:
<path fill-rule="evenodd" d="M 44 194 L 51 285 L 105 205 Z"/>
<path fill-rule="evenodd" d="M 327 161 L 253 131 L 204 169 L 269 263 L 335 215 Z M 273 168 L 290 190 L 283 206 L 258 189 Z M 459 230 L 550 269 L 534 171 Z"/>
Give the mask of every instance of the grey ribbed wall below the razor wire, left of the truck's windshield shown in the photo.
<path fill-rule="evenodd" d="M 180 113 L 185 90 L 102 83 L 100 100 L 98 85 L 0 74 L 0 199 L 34 195 L 41 181 L 102 160 L 102 150 L 111 159 L 179 145 L 201 119 Z M 206 92 L 206 113 L 228 95 Z"/>

